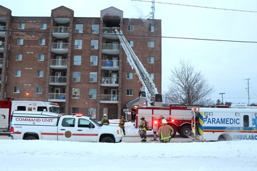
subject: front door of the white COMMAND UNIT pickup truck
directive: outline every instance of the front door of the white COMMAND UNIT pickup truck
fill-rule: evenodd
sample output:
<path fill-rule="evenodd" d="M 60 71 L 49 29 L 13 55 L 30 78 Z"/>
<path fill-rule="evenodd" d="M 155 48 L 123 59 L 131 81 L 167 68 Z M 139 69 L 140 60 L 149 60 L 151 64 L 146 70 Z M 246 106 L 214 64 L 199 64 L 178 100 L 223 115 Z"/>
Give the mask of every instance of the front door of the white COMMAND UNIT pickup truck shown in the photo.
<path fill-rule="evenodd" d="M 95 127 L 90 120 L 79 118 L 76 129 L 77 142 L 97 142 L 98 127 Z"/>

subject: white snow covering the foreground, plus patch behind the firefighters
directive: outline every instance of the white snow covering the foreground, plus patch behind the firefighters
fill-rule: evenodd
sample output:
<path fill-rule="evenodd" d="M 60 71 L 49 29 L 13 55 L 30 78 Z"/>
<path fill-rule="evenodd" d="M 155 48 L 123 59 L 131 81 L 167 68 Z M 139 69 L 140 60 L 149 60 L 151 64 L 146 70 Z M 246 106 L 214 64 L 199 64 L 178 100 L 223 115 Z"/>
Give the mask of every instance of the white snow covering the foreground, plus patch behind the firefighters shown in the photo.
<path fill-rule="evenodd" d="M 126 136 L 138 136 L 132 122 Z M 149 140 L 149 137 L 147 137 Z M 0 140 L 1 171 L 208 170 L 252 171 L 257 141 L 116 144 L 47 140 Z"/>

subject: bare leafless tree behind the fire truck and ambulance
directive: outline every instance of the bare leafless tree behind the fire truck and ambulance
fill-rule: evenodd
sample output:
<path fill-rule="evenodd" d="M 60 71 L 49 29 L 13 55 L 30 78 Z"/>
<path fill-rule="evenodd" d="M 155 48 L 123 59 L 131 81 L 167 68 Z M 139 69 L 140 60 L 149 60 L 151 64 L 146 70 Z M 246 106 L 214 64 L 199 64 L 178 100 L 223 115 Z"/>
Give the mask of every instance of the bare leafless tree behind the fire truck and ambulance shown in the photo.
<path fill-rule="evenodd" d="M 213 87 L 208 84 L 201 72 L 189 62 L 180 61 L 180 67 L 171 70 L 169 102 L 180 105 L 207 104 Z"/>

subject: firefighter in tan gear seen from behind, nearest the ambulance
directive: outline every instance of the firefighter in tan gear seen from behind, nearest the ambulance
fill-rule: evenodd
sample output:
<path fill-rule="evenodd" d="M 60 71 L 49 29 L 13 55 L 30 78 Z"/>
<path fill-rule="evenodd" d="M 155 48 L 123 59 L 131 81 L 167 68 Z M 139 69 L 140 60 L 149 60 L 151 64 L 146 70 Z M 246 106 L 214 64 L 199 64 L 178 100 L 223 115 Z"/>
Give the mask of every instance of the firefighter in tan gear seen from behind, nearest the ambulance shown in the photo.
<path fill-rule="evenodd" d="M 162 126 L 158 129 L 160 135 L 160 142 L 170 142 L 173 129 L 169 126 L 166 119 L 162 120 Z"/>

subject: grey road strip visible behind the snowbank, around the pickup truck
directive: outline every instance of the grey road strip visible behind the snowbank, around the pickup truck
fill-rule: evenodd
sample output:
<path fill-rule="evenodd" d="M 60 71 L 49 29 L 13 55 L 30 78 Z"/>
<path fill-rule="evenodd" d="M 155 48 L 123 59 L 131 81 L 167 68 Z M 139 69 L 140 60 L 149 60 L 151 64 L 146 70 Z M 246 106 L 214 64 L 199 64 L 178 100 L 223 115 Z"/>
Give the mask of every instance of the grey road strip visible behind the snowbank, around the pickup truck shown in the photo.
<path fill-rule="evenodd" d="M 9 137 L 6 135 L 0 135 L 0 140 L 8 140 Z M 158 141 L 159 137 L 156 137 L 156 140 L 154 140 L 154 136 L 153 135 L 149 135 L 147 136 L 147 142 L 143 142 L 143 143 L 159 143 L 160 141 Z M 140 142 L 141 138 L 140 136 L 124 136 L 122 142 Z M 180 135 L 175 135 L 175 137 L 173 137 L 171 139 L 171 142 L 193 142 L 193 140 L 191 140 L 190 138 L 184 138 L 181 137 Z M 141 143 L 141 142 L 140 142 Z"/>

